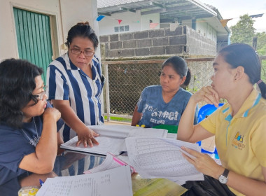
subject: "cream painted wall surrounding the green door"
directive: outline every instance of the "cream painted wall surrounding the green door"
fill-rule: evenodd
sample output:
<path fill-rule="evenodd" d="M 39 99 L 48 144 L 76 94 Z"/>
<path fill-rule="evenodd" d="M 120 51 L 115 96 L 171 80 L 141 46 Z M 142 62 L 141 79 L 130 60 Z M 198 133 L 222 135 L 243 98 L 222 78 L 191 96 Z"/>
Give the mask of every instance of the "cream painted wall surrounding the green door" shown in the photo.
<path fill-rule="evenodd" d="M 0 6 L 0 61 L 18 58 L 13 7 L 50 15 L 53 58 L 62 55 L 67 32 L 77 22 L 89 21 L 99 34 L 97 0 L 1 0 Z"/>

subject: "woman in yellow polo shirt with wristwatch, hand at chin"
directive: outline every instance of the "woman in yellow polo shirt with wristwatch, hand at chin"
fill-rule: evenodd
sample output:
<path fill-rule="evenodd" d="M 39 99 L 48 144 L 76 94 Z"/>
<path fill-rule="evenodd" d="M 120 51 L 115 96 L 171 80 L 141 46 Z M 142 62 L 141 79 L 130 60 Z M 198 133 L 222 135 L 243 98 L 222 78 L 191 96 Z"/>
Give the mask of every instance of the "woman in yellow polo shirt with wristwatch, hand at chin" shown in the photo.
<path fill-rule="evenodd" d="M 193 94 L 181 117 L 177 139 L 197 142 L 215 135 L 222 165 L 207 154 L 183 148 L 195 158 L 183 156 L 202 172 L 204 181 L 188 181 L 186 195 L 266 194 L 266 85 L 260 79 L 260 59 L 249 45 L 236 43 L 218 52 L 211 86 Z M 260 92 L 255 90 L 258 84 Z M 218 106 L 198 125 L 193 125 L 197 103 Z"/>

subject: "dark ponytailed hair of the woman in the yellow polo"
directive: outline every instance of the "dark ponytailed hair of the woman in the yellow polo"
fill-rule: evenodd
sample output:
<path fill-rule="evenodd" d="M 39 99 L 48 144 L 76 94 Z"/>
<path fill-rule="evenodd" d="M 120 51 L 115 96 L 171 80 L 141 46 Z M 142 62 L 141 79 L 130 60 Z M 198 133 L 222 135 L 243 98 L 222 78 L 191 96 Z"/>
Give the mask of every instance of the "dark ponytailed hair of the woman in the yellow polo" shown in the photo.
<path fill-rule="evenodd" d="M 257 52 L 245 43 L 233 43 L 225 46 L 218 55 L 222 55 L 225 62 L 230 64 L 232 68 L 243 66 L 244 72 L 248 75 L 252 85 L 259 84 L 261 95 L 266 99 L 266 84 L 260 80 L 261 63 Z"/>

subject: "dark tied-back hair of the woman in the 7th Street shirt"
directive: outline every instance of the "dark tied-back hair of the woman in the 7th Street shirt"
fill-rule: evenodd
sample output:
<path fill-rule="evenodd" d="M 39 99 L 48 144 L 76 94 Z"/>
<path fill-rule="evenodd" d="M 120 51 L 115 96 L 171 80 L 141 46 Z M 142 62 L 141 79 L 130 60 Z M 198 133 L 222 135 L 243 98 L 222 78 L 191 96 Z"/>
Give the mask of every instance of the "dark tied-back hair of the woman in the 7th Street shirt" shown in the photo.
<path fill-rule="evenodd" d="M 188 69 L 188 64 L 186 63 L 185 59 L 178 56 L 169 57 L 165 62 L 163 62 L 162 69 L 165 66 L 172 66 L 174 71 L 179 74 L 181 79 L 186 76 L 186 80 L 181 85 L 181 87 L 188 87 L 191 79 L 191 72 L 190 69 Z"/>

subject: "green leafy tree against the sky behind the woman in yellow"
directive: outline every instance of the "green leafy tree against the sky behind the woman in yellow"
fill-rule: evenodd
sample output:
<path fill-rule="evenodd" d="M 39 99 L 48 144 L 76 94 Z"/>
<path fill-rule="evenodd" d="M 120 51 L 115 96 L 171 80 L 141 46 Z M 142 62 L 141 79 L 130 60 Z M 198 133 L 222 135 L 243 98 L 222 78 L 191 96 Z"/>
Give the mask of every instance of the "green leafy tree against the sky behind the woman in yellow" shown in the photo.
<path fill-rule="evenodd" d="M 247 14 L 240 16 L 237 25 L 230 27 L 232 32 L 230 36 L 231 43 L 246 43 L 252 45 L 255 28 L 253 27 L 254 20 Z"/>

